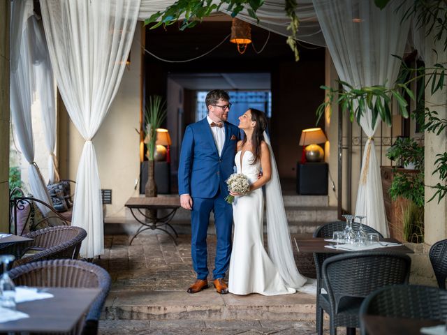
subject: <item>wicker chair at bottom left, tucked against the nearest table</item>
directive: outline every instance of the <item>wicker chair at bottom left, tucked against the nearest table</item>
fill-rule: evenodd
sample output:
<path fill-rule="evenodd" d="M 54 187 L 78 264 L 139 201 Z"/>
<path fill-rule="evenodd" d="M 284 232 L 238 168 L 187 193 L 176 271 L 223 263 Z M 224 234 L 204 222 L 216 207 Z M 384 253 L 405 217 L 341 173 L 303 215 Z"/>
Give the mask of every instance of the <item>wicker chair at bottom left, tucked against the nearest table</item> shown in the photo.
<path fill-rule="evenodd" d="M 82 260 L 43 260 L 15 267 L 9 271 L 16 285 L 51 288 L 100 288 L 101 293 L 90 306 L 85 320 L 74 334 L 98 333 L 98 320 L 110 290 L 110 275 L 102 267 Z"/>

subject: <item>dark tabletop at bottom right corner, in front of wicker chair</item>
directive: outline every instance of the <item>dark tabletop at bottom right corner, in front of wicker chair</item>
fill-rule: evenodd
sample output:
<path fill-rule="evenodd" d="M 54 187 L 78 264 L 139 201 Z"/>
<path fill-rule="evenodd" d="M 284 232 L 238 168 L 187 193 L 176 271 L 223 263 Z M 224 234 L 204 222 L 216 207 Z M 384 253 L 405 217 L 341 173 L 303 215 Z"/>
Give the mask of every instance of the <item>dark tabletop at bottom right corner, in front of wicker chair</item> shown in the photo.
<path fill-rule="evenodd" d="M 368 335 L 420 335 L 420 328 L 444 325 L 434 320 L 388 318 L 379 315 L 362 315 Z"/>

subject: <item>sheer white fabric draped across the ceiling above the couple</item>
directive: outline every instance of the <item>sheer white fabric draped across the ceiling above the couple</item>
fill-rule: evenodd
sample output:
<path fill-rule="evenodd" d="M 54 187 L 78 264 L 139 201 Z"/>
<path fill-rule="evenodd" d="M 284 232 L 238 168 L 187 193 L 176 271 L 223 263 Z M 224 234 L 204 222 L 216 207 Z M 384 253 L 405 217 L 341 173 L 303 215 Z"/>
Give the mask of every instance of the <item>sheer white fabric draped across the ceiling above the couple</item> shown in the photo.
<path fill-rule="evenodd" d="M 174 2 L 174 0 L 141 0 L 138 20 L 148 19 L 152 14 L 165 10 Z M 218 1 L 214 2 L 218 3 Z M 297 5 L 295 13 L 300 20 L 298 40 L 324 46 L 325 41 L 323 34 L 321 33 L 320 24 L 318 24 L 318 20 L 316 20 L 312 0 L 298 0 Z M 263 6 L 256 11 L 256 15 L 260 20 L 259 23 L 248 15 L 247 9 L 238 13 L 237 18 L 276 34 L 288 36 L 290 33 L 286 28 L 290 21 L 286 16 L 284 8 L 284 0 L 265 0 Z M 221 6 L 220 11 L 222 13 L 227 13 L 228 15 L 231 14 L 231 10 L 226 10 L 226 5 Z"/>

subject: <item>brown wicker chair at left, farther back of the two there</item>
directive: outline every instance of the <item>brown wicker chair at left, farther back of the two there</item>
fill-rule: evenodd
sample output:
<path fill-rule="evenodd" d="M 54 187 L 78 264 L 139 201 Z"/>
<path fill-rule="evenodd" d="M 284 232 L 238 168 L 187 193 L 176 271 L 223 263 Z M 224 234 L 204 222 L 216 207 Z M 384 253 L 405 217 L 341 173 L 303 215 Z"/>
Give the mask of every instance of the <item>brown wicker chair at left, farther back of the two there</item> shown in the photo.
<path fill-rule="evenodd" d="M 13 267 L 17 267 L 37 260 L 51 260 L 56 258 L 78 258 L 82 240 L 87 237 L 87 232 L 69 225 L 44 228 L 36 232 L 24 235 L 33 239 L 23 244 L 14 244 L 2 248 L 0 253 L 15 255 Z M 37 251 L 30 253 L 30 251 Z M 22 257 L 23 256 L 23 257 Z"/>

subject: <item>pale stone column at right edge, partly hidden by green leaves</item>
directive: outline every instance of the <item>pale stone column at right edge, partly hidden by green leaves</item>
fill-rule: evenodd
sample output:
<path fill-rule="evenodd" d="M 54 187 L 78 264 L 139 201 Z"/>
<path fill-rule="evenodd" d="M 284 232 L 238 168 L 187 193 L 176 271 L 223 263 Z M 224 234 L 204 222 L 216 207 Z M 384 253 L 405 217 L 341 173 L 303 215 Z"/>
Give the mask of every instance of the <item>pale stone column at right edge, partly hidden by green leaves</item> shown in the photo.
<path fill-rule="evenodd" d="M 444 37 L 445 38 L 445 37 Z M 445 64 L 447 61 L 447 53 L 444 51 L 444 38 L 441 38 L 436 45 L 433 44 L 434 38 L 428 36 L 426 38 L 425 47 L 425 66 L 429 67 L 432 64 L 440 63 Z M 432 50 L 437 50 L 437 54 Z M 435 94 L 430 94 L 431 84 L 428 85 L 425 90 L 425 107 L 429 107 L 430 110 L 436 110 L 438 112 L 439 119 L 447 119 L 447 89 L 444 86 Z M 437 154 L 444 154 L 447 151 L 447 139 L 446 131 L 436 135 L 434 133 L 425 132 L 425 185 L 436 185 L 438 182 L 446 184 L 446 181 L 439 181 L 438 175 L 433 175 L 435 161 L 437 160 Z M 447 238 L 447 197 L 444 197 L 439 203 L 437 199 L 427 202 L 434 190 L 430 187 L 425 187 L 425 243 L 434 244 L 434 242 Z"/>

